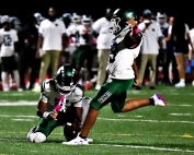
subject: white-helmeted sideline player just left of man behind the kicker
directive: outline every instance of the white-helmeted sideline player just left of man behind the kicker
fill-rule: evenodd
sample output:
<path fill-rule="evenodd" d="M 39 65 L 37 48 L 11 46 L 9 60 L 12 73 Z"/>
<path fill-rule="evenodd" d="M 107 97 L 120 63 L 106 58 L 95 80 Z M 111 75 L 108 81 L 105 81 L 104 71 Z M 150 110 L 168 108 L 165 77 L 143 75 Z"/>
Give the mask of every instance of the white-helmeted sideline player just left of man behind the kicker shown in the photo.
<path fill-rule="evenodd" d="M 79 74 L 79 83 L 83 85 L 90 85 L 91 80 L 91 69 L 93 62 L 93 31 L 92 31 L 92 19 L 91 16 L 82 15 L 82 24 L 77 26 L 79 36 L 79 47 L 76 50 L 76 68 Z M 87 71 L 82 74 L 82 68 L 84 67 Z M 90 87 L 90 86 L 89 86 Z"/>

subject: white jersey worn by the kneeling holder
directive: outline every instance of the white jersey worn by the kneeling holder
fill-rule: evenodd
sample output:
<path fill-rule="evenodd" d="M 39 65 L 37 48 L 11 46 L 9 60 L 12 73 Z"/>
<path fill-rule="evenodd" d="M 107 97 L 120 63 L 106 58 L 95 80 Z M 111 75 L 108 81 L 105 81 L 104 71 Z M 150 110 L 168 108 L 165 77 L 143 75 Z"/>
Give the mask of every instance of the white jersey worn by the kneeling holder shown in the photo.
<path fill-rule="evenodd" d="M 53 79 L 45 80 L 42 84 L 42 92 L 39 100 L 47 103 L 48 111 L 54 110 L 56 105 L 58 105 L 60 99 L 60 93 L 58 92 L 57 87 L 55 86 L 55 81 Z M 83 91 L 77 84 L 75 90 L 71 92 L 70 95 L 66 96 L 66 107 L 75 106 L 81 107 L 83 99 Z"/>

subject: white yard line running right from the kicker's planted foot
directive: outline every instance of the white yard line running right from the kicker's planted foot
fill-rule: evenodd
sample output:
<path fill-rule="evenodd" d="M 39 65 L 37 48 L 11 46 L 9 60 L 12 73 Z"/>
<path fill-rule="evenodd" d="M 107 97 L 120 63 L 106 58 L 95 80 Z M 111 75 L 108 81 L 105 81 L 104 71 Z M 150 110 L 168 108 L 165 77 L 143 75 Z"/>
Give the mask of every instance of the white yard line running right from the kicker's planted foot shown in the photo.
<path fill-rule="evenodd" d="M 181 150 L 181 148 L 166 148 L 166 147 L 155 147 L 155 146 L 138 146 L 138 145 L 112 145 L 112 144 L 89 144 L 93 146 L 106 146 L 106 147 L 128 147 L 128 148 L 141 148 L 141 150 L 152 150 L 152 151 L 164 151 L 164 152 L 183 152 L 183 153 L 194 153 L 192 150 Z"/>

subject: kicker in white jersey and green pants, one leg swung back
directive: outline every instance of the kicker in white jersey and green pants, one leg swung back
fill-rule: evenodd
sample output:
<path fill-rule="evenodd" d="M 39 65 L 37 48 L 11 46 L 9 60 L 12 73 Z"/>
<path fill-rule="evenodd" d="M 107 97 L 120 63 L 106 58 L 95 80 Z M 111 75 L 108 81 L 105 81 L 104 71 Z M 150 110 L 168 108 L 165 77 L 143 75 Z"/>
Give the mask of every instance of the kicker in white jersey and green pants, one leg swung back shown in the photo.
<path fill-rule="evenodd" d="M 88 134 L 94 124 L 99 110 L 111 103 L 114 112 L 126 112 L 145 106 L 167 106 L 164 99 L 155 94 L 150 98 L 126 99 L 127 90 L 138 84 L 135 59 L 142 44 L 144 34 L 137 28 L 135 13 L 130 10 L 114 11 L 113 27 L 110 32 L 115 35 L 109 58 L 109 79 L 92 98 L 90 108 L 80 134 L 67 145 L 89 144 Z M 134 73 L 135 71 L 135 73 Z"/>

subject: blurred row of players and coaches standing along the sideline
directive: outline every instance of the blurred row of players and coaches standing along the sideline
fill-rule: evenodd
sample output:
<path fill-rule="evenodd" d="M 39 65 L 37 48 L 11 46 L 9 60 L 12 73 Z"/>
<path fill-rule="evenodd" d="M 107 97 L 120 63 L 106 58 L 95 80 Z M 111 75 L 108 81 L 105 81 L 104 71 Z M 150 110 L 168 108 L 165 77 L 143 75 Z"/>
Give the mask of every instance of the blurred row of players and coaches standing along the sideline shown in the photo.
<path fill-rule="evenodd" d="M 107 31 L 112 15 L 113 10 L 106 9 L 104 16 L 96 21 L 77 13 L 58 17 L 56 9 L 49 8 L 48 16 L 36 12 L 23 24 L 18 17 L 1 15 L 1 90 L 39 92 L 44 79 L 55 76 L 65 63 L 76 68 L 78 82 L 85 90 L 100 90 L 106 79 L 114 38 Z M 186 81 L 194 86 L 194 29 L 189 28 L 184 16 L 145 10 L 137 22 L 145 38 L 136 60 L 140 83 L 136 90 L 141 90 L 142 84 L 150 90 L 157 84 L 184 87 Z M 4 35 L 7 27 L 12 31 L 12 40 Z M 4 46 L 10 46 L 11 41 L 14 43 L 11 45 L 13 52 L 8 52 Z"/>

